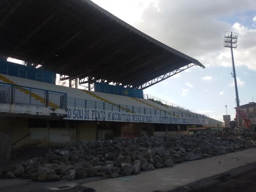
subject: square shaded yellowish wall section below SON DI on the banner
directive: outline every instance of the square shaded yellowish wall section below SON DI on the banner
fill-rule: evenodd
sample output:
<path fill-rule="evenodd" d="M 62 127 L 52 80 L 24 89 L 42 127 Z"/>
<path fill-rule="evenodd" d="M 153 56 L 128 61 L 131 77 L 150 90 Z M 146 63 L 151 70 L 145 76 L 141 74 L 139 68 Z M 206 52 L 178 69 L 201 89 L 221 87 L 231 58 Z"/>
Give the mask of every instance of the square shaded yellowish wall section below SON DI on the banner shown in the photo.
<path fill-rule="evenodd" d="M 78 141 L 96 141 L 97 124 L 95 121 L 79 121 L 78 127 Z"/>

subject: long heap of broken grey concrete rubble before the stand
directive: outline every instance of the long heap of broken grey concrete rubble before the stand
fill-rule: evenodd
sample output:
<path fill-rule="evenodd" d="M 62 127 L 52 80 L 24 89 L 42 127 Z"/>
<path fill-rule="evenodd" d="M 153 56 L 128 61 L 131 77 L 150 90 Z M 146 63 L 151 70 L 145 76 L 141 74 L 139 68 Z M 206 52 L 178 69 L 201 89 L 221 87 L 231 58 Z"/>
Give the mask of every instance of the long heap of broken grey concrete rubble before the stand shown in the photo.
<path fill-rule="evenodd" d="M 3 170 L 0 176 L 34 181 L 115 178 L 255 147 L 251 140 L 256 140 L 256 134 L 249 129 L 225 128 L 218 134 L 65 143 L 44 157 Z"/>

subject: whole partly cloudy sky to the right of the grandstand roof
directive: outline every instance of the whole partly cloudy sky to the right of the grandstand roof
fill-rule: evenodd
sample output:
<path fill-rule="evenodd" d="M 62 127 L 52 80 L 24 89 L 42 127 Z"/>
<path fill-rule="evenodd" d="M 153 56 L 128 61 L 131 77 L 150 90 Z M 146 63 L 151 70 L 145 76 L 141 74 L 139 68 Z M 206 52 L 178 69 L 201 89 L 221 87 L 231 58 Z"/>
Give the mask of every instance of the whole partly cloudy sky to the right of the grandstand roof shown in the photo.
<path fill-rule="evenodd" d="M 199 113 L 235 117 L 236 94 L 225 31 L 238 33 L 233 49 L 240 105 L 256 101 L 255 0 L 93 0 L 140 31 L 200 61 L 144 90 Z"/>

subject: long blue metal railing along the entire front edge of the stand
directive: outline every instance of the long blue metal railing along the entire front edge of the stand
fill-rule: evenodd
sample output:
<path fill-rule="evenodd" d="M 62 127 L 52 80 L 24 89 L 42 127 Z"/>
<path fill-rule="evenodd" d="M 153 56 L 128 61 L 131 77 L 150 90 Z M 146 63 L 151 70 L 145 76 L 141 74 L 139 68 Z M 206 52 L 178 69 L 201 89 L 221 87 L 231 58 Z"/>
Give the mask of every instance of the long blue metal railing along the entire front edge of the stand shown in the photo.
<path fill-rule="evenodd" d="M 88 99 L 67 97 L 67 93 L 37 89 L 32 87 L 0 83 L 0 103 L 17 103 L 40 105 L 44 107 L 57 106 L 58 108 L 84 108 L 102 111 L 117 111 L 158 116 L 176 116 L 204 119 L 207 116 L 182 111 L 166 111 L 154 108 L 143 108 L 130 105 L 120 105 Z"/>

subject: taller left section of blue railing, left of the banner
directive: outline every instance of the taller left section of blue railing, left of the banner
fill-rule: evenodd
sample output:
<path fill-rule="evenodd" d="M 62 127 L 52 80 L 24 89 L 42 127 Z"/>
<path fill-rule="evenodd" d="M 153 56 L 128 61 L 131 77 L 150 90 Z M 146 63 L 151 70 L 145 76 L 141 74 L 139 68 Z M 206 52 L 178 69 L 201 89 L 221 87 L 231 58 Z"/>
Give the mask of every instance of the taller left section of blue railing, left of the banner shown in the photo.
<path fill-rule="evenodd" d="M 67 108 L 67 93 L 0 83 L 0 103 Z"/>

